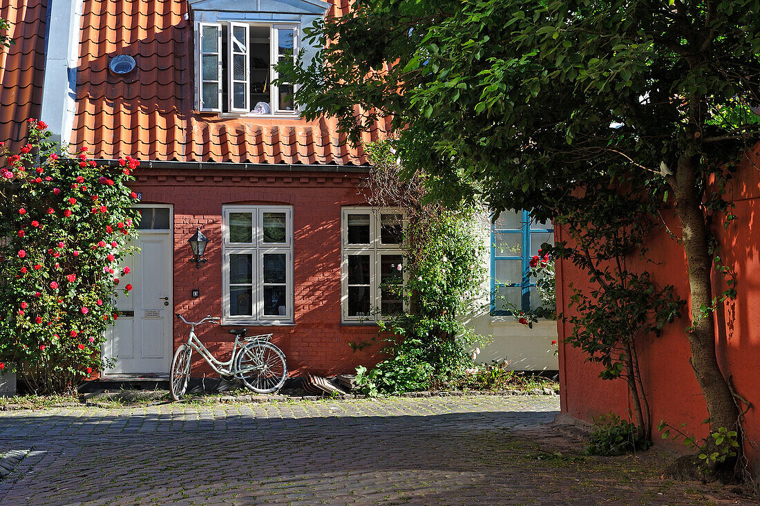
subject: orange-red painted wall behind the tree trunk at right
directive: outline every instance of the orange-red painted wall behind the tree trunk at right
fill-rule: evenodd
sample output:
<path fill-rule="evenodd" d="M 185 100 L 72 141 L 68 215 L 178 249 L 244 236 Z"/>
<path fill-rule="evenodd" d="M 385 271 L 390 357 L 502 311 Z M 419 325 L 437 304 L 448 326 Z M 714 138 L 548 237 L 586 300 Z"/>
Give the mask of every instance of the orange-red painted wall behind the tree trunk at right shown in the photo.
<path fill-rule="evenodd" d="M 728 231 L 718 225 L 721 258 L 736 272 L 739 292 L 736 301 L 728 301 L 715 315 L 718 336 L 717 352 L 724 374 L 730 374 L 736 390 L 749 402 L 758 406 L 746 414 L 746 430 L 749 439 L 760 439 L 760 144 L 739 165 L 736 179 L 729 189 L 729 197 L 736 204 L 734 214 L 739 217 Z M 675 216 L 664 215 L 669 228 L 676 236 L 680 228 Z M 567 240 L 567 231 L 558 230 L 557 240 Z M 626 267 L 635 272 L 644 269 L 651 272 L 660 285 L 673 285 L 676 294 L 689 300 L 686 278 L 686 259 L 682 247 L 670 239 L 665 231 L 659 231 L 648 242 L 650 259 L 647 263 L 636 257 L 627 259 Z M 578 272 L 572 264 L 564 261 L 557 266 L 557 304 L 568 310 L 571 295 L 568 285 L 588 287 L 587 275 Z M 713 280 L 714 293 L 724 290 L 720 277 Z M 708 426 L 702 421 L 708 417 L 705 401 L 701 396 L 694 371 L 689 364 L 689 345 L 684 329 L 689 325 L 688 310 L 683 317 L 667 327 L 660 338 L 648 338 L 639 348 L 644 388 L 648 394 L 655 427 L 664 419 L 670 425 L 686 422 L 685 430 L 702 438 L 708 434 Z M 560 340 L 572 331 L 568 323 L 558 321 Z M 622 380 L 601 380 L 599 368 L 585 361 L 584 355 L 567 345 L 559 348 L 560 403 L 563 413 L 591 422 L 598 415 L 608 412 L 627 418 L 632 413 L 629 393 Z M 630 411 L 629 411 L 630 410 Z M 655 444 L 674 444 L 663 441 L 656 431 Z M 675 447 L 683 448 L 682 444 Z M 755 463 L 760 453 L 752 447 L 748 455 Z M 760 465 L 755 465 L 760 469 Z"/>

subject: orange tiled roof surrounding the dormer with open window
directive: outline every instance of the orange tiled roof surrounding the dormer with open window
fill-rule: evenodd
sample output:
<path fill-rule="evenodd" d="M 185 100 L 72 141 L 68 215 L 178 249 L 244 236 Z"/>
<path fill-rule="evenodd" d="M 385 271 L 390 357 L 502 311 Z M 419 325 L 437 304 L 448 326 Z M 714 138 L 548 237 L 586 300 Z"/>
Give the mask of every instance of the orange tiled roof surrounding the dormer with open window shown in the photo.
<path fill-rule="evenodd" d="M 87 146 L 96 158 L 108 159 L 366 164 L 362 148 L 347 145 L 331 119 L 195 112 L 193 27 L 185 21 L 184 0 L 84 0 L 83 7 L 71 136 L 76 148 Z M 347 9 L 348 2 L 334 0 L 330 14 Z M 109 74 L 109 59 L 117 54 L 137 62 L 127 80 Z M 382 138 L 389 127 L 389 120 L 378 123 L 364 141 Z"/>

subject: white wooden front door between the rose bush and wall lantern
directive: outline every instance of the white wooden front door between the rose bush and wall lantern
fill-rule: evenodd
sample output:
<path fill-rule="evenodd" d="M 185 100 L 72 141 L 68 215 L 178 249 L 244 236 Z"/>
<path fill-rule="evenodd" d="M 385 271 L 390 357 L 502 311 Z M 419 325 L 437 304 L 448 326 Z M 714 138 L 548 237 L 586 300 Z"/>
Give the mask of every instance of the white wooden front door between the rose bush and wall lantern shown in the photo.
<path fill-rule="evenodd" d="M 172 358 L 171 209 L 140 206 L 138 253 L 126 260 L 130 272 L 119 282 L 119 319 L 106 332 L 103 357 L 115 363 L 103 377 L 163 377 Z M 129 296 L 123 288 L 132 285 Z"/>

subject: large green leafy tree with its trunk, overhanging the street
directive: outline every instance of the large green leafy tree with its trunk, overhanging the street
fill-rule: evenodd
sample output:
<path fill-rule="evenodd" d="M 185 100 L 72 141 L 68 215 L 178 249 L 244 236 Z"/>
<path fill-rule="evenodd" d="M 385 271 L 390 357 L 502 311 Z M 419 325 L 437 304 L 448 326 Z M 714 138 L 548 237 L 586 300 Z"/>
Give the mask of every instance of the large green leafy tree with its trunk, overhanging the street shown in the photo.
<path fill-rule="evenodd" d="M 433 199 L 482 198 L 540 219 L 613 209 L 576 214 L 624 223 L 639 247 L 638 218 L 673 208 L 688 261 L 685 336 L 711 432 L 736 428 L 705 313 L 716 306 L 711 219 L 730 204 L 708 183 L 730 177 L 760 134 L 760 0 L 354 6 L 307 31 L 325 46 L 312 62 L 278 67 L 301 84 L 304 114 L 337 116 L 355 139 L 393 116 L 404 170 L 424 174 Z"/>

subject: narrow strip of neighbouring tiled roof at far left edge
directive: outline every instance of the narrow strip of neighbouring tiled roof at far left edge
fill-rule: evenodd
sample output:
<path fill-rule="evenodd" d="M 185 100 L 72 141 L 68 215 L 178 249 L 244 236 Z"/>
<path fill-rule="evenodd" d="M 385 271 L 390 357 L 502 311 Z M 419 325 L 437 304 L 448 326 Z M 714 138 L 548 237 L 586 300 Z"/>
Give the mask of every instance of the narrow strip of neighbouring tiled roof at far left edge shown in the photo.
<path fill-rule="evenodd" d="M 0 141 L 11 148 L 40 116 L 45 68 L 46 0 L 3 0 L 0 18 L 11 24 L 10 47 L 0 47 Z"/>

